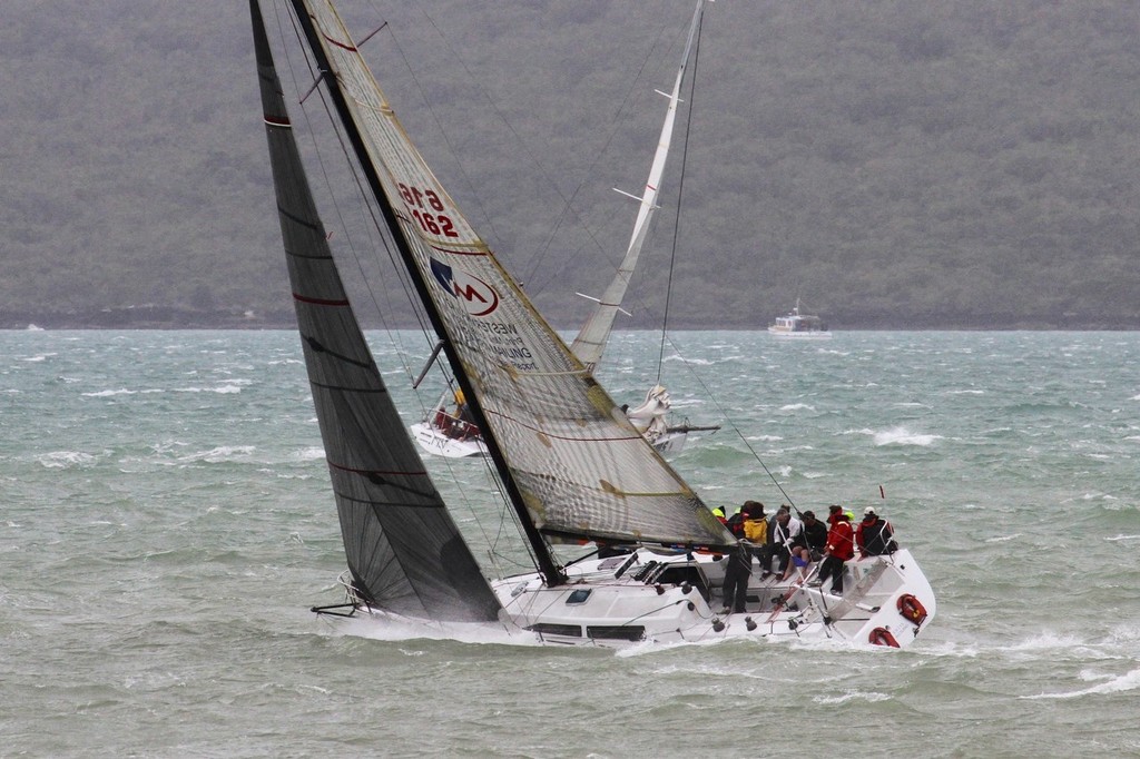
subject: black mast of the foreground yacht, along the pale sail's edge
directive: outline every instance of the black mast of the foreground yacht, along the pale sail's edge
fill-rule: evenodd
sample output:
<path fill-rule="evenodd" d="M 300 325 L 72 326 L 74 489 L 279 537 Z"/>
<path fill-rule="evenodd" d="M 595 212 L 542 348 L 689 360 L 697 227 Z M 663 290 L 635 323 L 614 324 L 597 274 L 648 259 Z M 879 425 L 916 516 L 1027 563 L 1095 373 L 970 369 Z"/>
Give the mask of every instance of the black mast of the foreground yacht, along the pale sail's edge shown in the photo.
<path fill-rule="evenodd" d="M 416 287 L 416 293 L 424 305 L 427 318 L 431 320 L 432 328 L 435 330 L 437 336 L 443 345 L 443 353 L 447 356 L 448 364 L 451 366 L 451 372 L 454 373 L 456 381 L 463 389 L 463 393 L 466 397 L 467 403 L 471 406 L 475 422 L 480 430 L 483 431 L 483 441 L 487 446 L 488 454 L 495 464 L 499 479 L 503 481 L 503 484 L 507 490 L 507 496 L 511 500 L 512 507 L 519 516 L 519 522 L 522 525 L 523 533 L 534 550 L 535 561 L 538 564 L 538 571 L 543 574 L 546 585 L 552 587 L 562 585 L 565 581 L 565 573 L 554 561 L 549 546 L 543 534 L 538 531 L 538 528 L 535 525 L 530 513 L 527 511 L 522 492 L 511 473 L 511 468 L 506 463 L 506 457 L 499 447 L 499 442 L 495 435 L 491 434 L 491 426 L 487 421 L 487 416 L 483 413 L 481 403 L 479 402 L 479 394 L 474 392 L 463 362 L 459 360 L 455 344 L 451 342 L 447 329 L 443 327 L 443 319 L 427 292 L 426 283 L 421 276 L 418 276 L 412 248 L 407 239 L 404 237 L 404 232 L 397 219 L 396 210 L 384 191 L 380 174 L 376 171 L 376 166 L 373 164 L 368 149 L 365 147 L 365 141 L 360 134 L 359 128 L 357 126 L 356 120 L 353 119 L 352 111 L 348 105 L 344 92 L 341 90 L 341 84 L 337 81 L 336 75 L 333 73 L 333 67 L 329 64 L 328 56 L 321 44 L 321 38 L 314 26 L 312 18 L 309 15 L 307 0 L 291 0 L 291 2 L 294 11 L 296 13 L 298 21 L 301 23 L 301 28 L 304 31 L 304 35 L 309 42 L 309 48 L 312 50 L 312 55 L 317 60 L 317 67 L 327 84 L 328 93 L 332 97 L 336 113 L 340 116 L 341 123 L 344 125 L 349 141 L 352 144 L 357 162 L 364 171 L 365 178 L 368 181 L 368 187 L 380 206 L 381 213 L 383 214 L 384 223 L 391 232 L 401 261 L 404 261 L 405 267 L 407 267 L 409 274 L 412 275 L 409 278 Z M 352 48 L 352 51 L 357 52 L 355 48 Z"/>

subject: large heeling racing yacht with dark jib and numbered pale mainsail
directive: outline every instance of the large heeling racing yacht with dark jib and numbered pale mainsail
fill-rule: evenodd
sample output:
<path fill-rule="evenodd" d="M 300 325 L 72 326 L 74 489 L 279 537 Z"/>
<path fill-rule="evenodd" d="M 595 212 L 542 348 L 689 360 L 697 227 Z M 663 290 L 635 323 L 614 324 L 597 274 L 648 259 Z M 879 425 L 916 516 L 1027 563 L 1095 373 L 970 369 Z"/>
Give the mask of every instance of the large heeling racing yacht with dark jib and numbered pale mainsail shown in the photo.
<path fill-rule="evenodd" d="M 534 563 L 521 574 L 483 574 L 404 427 L 329 250 L 250 0 L 278 219 L 348 563 L 344 603 L 315 611 L 495 630 L 527 644 L 911 644 L 935 598 L 905 548 L 849 562 L 841 598 L 805 582 L 804 571 L 783 583 L 756 573 L 746 611 L 720 610 L 728 557 L 747 556 L 747 545 L 641 435 L 471 228 L 332 3 L 290 2 Z M 568 545 L 576 555 L 563 560 Z"/>

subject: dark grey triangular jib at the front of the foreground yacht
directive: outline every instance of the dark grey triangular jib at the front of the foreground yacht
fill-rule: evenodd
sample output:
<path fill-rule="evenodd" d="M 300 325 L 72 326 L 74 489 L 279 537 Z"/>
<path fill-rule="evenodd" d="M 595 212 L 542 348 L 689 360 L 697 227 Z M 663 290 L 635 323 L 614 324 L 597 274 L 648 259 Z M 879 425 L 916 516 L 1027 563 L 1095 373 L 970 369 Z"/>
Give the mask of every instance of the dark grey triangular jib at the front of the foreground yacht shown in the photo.
<path fill-rule="evenodd" d="M 495 620 L 487 580 L 404 434 L 349 305 L 309 191 L 256 0 L 266 133 L 298 327 L 357 594 L 445 621 Z"/>

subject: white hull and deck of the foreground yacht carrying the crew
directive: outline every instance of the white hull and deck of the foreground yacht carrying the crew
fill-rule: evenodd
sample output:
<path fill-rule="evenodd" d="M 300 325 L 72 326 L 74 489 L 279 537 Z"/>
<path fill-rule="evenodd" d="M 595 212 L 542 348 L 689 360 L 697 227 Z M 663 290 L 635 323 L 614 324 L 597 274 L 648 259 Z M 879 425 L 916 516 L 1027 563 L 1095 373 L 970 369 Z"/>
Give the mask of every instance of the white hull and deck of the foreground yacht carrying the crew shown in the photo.
<path fill-rule="evenodd" d="M 640 549 L 573 564 L 567 569 L 570 581 L 555 588 L 546 588 L 538 574 L 496 580 L 491 587 L 504 607 L 498 629 L 522 643 L 559 646 L 772 638 L 906 647 L 935 617 L 934 591 L 907 550 L 848 562 L 842 596 L 826 593 L 830 580 L 823 588 L 771 577 L 762 581 L 754 565 L 747 610 L 732 614 L 720 611 L 726 562 Z M 920 625 L 899 611 L 904 596 L 925 609 Z M 377 620 L 409 621 L 359 611 Z"/>

